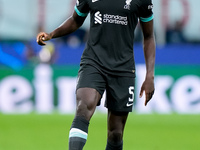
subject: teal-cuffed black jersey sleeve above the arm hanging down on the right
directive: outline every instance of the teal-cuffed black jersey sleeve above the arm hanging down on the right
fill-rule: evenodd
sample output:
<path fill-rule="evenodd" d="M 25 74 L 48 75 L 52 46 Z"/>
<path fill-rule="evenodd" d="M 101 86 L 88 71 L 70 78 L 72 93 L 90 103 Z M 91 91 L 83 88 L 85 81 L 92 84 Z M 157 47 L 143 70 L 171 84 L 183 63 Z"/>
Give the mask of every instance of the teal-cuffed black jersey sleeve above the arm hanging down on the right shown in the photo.
<path fill-rule="evenodd" d="M 139 8 L 139 18 L 142 22 L 149 22 L 153 19 L 152 0 L 142 0 Z"/>

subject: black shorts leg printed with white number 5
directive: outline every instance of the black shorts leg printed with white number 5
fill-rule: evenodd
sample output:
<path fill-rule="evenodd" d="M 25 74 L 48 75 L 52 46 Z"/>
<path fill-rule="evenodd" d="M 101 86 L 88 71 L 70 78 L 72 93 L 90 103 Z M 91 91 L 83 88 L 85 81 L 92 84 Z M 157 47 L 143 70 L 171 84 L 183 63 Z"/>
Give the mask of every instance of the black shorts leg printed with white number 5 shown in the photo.
<path fill-rule="evenodd" d="M 131 112 L 134 101 L 134 77 L 108 77 L 105 106 L 112 111 Z"/>

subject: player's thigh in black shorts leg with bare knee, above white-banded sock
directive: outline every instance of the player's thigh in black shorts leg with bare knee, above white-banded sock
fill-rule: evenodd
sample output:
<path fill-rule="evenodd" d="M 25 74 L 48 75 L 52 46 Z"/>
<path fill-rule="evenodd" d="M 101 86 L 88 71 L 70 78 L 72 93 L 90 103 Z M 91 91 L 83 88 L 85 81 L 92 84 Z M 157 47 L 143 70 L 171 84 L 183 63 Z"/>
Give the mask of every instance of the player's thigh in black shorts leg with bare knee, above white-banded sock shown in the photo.
<path fill-rule="evenodd" d="M 90 120 L 96 106 L 100 105 L 105 85 L 103 74 L 97 68 L 91 65 L 81 66 L 76 87 L 76 115 Z"/>

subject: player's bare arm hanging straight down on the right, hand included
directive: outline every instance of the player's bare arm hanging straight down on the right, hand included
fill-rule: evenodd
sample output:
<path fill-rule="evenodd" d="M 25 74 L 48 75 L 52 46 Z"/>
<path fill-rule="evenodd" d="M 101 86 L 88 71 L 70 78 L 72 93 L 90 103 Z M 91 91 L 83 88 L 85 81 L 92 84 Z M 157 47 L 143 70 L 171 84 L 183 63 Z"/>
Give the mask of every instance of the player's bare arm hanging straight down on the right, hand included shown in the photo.
<path fill-rule="evenodd" d="M 146 77 L 142 84 L 140 97 L 145 91 L 145 106 L 151 100 L 154 94 L 154 66 L 155 66 L 155 38 L 153 32 L 153 20 L 149 22 L 140 22 L 144 36 L 144 57 L 146 63 Z"/>

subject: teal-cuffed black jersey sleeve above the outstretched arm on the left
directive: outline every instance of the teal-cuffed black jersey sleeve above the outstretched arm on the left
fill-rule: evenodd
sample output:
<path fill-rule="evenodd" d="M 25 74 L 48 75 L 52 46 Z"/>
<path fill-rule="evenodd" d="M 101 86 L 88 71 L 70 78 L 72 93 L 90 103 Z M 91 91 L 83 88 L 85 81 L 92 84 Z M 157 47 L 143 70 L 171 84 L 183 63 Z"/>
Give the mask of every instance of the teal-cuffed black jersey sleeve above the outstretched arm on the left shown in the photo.
<path fill-rule="evenodd" d="M 81 17 L 86 17 L 89 13 L 89 7 L 86 0 L 77 0 L 74 9 Z"/>

